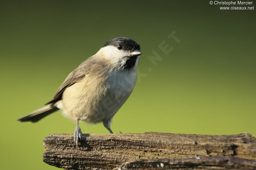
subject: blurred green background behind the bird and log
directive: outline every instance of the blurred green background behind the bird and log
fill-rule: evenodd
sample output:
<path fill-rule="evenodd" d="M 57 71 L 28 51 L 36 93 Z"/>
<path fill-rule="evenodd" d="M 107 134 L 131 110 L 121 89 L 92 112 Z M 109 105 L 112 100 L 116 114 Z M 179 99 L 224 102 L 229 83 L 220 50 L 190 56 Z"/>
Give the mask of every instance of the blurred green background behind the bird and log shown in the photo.
<path fill-rule="evenodd" d="M 145 131 L 256 136 L 256 20 L 209 1 L 1 1 L 1 169 L 57 169 L 42 161 L 43 139 L 73 133 L 52 114 L 16 120 L 52 99 L 66 76 L 104 43 L 124 36 L 141 45 L 140 74 L 113 118 L 114 133 Z M 175 30 L 177 43 L 167 36 Z M 165 55 L 158 45 L 173 50 Z M 149 55 L 162 61 L 155 66 Z M 149 71 L 151 70 L 151 71 Z M 83 133 L 108 133 L 80 123 Z"/>

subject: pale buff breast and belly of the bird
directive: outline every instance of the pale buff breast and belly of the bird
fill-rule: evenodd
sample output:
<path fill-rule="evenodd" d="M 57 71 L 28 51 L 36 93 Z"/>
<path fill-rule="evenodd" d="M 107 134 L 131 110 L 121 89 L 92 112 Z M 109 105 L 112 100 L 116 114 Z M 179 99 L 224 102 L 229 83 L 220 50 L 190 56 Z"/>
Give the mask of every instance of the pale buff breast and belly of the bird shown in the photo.
<path fill-rule="evenodd" d="M 136 71 L 119 70 L 107 75 L 88 74 L 64 91 L 62 104 L 68 117 L 97 123 L 116 114 L 135 86 Z"/>

